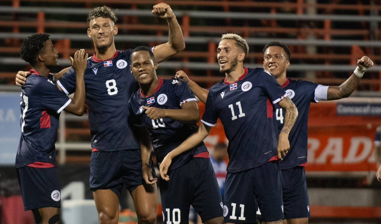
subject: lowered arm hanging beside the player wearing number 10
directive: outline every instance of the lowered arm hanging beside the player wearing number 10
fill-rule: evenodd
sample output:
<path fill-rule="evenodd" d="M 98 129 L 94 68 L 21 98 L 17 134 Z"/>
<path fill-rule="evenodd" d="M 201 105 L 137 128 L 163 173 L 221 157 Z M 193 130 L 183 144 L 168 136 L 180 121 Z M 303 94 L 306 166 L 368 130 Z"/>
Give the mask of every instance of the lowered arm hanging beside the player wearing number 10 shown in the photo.
<path fill-rule="evenodd" d="M 142 174 L 143 179 L 146 181 L 146 184 L 154 184 L 157 182 L 157 178 L 152 176 L 152 168 L 149 165 L 149 160 L 151 158 L 152 152 L 152 143 L 149 136 L 149 132 L 145 127 L 139 127 L 139 142 L 141 150 L 141 159 L 142 159 Z"/>

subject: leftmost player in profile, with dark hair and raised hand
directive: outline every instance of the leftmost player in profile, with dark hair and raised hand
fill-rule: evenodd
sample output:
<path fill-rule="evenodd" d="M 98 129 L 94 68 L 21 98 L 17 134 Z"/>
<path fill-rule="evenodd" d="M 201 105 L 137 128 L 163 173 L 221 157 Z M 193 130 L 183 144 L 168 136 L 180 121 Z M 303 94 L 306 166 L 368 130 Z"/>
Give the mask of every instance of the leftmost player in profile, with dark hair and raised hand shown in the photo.
<path fill-rule="evenodd" d="M 81 49 L 74 59 L 70 57 L 77 73 L 73 100 L 59 91 L 50 77 L 50 69 L 58 66 L 58 51 L 48 34 L 34 34 L 25 39 L 20 55 L 32 66 L 30 77 L 21 88 L 21 138 L 15 163 L 24 210 L 32 210 L 36 224 L 56 224 L 61 207 L 54 147 L 59 113 L 65 110 L 83 115 L 87 54 Z"/>

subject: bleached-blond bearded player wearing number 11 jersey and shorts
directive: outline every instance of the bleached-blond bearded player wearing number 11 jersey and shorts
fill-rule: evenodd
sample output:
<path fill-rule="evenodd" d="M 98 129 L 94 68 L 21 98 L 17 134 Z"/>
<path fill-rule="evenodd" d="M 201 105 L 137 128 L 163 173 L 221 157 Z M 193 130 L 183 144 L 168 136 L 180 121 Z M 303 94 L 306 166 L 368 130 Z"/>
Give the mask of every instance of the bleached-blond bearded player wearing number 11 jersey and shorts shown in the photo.
<path fill-rule="evenodd" d="M 211 87 L 197 133 L 166 155 L 160 164 L 160 176 L 168 180 L 173 158 L 199 144 L 220 118 L 229 140 L 223 197 L 225 222 L 256 222 L 259 206 L 266 223 L 282 223 L 282 186 L 275 160 L 282 160 L 288 152 L 288 134 L 298 111 L 269 72 L 243 67 L 247 53 L 248 45 L 242 37 L 222 36 L 217 59 L 226 78 Z M 278 147 L 273 104 L 287 111 Z"/>

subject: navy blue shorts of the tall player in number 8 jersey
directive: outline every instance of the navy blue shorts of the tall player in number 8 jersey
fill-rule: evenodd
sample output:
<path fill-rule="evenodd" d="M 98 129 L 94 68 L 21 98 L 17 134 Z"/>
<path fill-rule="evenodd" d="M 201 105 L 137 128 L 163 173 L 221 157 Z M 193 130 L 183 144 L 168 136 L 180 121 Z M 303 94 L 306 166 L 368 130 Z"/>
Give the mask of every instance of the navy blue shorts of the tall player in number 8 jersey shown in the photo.
<path fill-rule="evenodd" d="M 152 167 L 152 160 L 150 161 Z M 156 178 L 155 170 L 152 176 Z M 123 186 L 130 191 L 144 183 L 140 149 L 91 153 L 90 189 L 110 189 L 120 198 Z"/>

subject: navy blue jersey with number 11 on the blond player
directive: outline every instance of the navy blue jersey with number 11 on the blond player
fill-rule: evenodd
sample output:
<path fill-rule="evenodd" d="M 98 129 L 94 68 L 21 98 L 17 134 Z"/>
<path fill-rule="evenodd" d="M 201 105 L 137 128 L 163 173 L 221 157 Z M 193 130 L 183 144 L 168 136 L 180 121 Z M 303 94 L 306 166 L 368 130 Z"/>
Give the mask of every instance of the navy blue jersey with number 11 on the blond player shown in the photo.
<path fill-rule="evenodd" d="M 228 172 L 261 166 L 277 155 L 272 104 L 284 97 L 282 86 L 260 68 L 245 68 L 237 82 L 225 79 L 212 86 L 201 121 L 214 126 L 221 119 L 229 140 Z"/>

